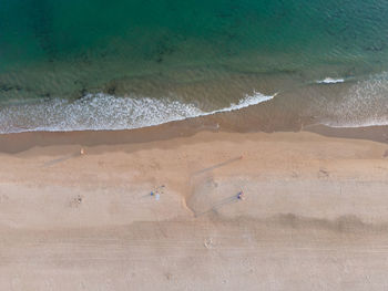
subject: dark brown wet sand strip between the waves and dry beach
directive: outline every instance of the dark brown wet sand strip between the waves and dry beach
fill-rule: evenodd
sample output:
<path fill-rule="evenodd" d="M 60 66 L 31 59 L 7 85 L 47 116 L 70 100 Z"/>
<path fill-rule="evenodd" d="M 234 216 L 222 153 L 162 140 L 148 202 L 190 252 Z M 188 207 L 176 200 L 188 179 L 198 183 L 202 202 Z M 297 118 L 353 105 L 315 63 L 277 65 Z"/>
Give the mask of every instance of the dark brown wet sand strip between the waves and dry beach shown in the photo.
<path fill-rule="evenodd" d="M 365 139 L 388 143 L 388 125 L 366 127 L 329 127 L 321 124 L 307 124 L 289 128 L 263 128 L 258 126 L 219 126 L 215 116 L 203 116 L 161 125 L 121 131 L 74 131 L 74 132 L 22 132 L 0 135 L 0 153 L 19 153 L 34 146 L 53 145 L 119 145 L 166 141 L 175 137 L 188 137 L 200 132 L 214 133 L 287 133 L 310 132 L 328 137 Z"/>

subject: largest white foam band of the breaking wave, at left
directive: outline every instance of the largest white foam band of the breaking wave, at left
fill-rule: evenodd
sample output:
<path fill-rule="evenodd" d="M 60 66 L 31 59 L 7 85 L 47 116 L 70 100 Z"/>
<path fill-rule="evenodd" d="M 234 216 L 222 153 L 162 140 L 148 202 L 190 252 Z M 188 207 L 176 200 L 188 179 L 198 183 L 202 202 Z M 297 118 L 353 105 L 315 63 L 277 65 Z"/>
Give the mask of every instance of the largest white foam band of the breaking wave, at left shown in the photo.
<path fill-rule="evenodd" d="M 57 98 L 0 107 L 0 133 L 133 129 L 241 110 L 273 97 L 254 92 L 237 104 L 205 112 L 169 98 L 88 94 L 74 102 Z"/>

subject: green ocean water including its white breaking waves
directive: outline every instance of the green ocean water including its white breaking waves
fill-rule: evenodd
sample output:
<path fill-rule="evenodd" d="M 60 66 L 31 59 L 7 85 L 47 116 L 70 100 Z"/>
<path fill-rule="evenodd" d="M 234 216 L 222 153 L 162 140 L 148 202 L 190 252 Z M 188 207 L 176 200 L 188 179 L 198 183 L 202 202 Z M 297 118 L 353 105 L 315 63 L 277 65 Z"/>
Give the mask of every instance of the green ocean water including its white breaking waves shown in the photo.
<path fill-rule="evenodd" d="M 279 112 L 329 126 L 388 124 L 385 0 L 0 3 L 0 133 L 137 128 L 231 111 L 246 111 L 252 126 Z M 266 119 L 255 119 L 263 106 Z"/>

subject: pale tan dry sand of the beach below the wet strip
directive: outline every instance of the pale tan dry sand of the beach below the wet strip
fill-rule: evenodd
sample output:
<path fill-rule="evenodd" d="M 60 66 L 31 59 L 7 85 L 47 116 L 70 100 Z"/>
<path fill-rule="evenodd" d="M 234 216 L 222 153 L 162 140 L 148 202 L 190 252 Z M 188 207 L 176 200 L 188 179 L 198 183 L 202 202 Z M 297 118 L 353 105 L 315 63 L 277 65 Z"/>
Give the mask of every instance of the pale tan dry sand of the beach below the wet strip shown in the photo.
<path fill-rule="evenodd" d="M 0 290 L 386 290 L 387 149 L 202 132 L 3 152 Z"/>

